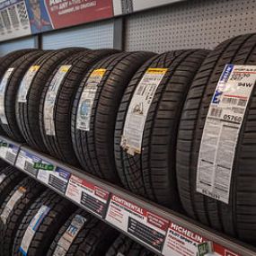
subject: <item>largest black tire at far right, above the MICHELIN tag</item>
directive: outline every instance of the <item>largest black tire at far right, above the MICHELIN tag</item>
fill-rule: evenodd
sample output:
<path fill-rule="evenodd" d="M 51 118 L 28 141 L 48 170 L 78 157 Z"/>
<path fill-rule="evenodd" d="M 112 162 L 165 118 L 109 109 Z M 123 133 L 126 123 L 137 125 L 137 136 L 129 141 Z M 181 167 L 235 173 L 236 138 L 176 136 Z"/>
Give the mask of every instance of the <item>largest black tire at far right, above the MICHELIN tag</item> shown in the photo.
<path fill-rule="evenodd" d="M 255 243 L 255 86 L 235 150 L 229 203 L 208 198 L 196 191 L 199 147 L 207 110 L 226 64 L 255 65 L 256 34 L 223 42 L 199 69 L 182 110 L 177 144 L 178 188 L 182 205 L 189 216 L 243 241 Z"/>

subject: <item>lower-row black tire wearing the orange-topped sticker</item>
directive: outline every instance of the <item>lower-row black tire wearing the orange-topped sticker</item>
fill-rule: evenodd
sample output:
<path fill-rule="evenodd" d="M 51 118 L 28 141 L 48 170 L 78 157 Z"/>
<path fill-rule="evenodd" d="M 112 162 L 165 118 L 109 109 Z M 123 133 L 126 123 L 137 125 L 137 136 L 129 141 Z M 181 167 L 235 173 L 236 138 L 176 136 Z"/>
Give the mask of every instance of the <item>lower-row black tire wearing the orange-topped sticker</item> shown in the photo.
<path fill-rule="evenodd" d="M 20 188 L 25 189 L 22 197 L 16 201 L 12 211 L 6 218 L 6 223 L 0 219 L 0 255 L 8 256 L 12 255 L 13 240 L 18 230 L 20 223 L 22 222 L 23 216 L 25 216 L 31 204 L 40 196 L 45 190 L 45 187 L 40 185 L 39 182 L 27 177 L 21 181 L 11 191 L 9 196 L 4 200 L 3 205 L 0 208 L 0 216 L 3 214 L 4 208 L 9 200 L 13 197 L 13 194 Z"/>

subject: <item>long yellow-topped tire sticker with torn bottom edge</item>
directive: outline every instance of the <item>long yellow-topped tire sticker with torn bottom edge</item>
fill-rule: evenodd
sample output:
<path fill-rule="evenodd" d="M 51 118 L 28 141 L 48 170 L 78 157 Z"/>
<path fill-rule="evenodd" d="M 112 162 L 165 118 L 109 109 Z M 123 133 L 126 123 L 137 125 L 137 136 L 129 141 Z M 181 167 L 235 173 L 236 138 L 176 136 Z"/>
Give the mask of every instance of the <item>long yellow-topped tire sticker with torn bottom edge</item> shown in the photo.
<path fill-rule="evenodd" d="M 142 138 L 147 112 L 154 99 L 154 93 L 168 68 L 148 68 L 137 85 L 129 103 L 121 146 L 128 154 L 141 154 Z"/>

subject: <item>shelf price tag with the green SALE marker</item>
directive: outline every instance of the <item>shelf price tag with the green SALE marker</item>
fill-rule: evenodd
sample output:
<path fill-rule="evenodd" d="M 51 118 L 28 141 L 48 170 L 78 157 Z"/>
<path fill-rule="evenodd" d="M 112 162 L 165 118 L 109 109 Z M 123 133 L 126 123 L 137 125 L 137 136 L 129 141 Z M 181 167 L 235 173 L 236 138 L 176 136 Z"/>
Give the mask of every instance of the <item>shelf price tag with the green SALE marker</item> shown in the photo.
<path fill-rule="evenodd" d="M 65 194 L 70 173 L 45 161 L 42 164 L 43 166 L 40 167 L 44 169 L 39 169 L 37 179 Z"/>

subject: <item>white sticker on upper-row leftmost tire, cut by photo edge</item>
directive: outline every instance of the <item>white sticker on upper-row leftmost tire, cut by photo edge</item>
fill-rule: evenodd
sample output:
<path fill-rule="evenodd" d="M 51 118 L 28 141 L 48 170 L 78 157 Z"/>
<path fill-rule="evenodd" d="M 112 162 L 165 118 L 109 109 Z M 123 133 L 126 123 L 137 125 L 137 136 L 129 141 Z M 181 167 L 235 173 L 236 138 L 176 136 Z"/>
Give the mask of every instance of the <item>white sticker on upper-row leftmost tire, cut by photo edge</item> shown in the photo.
<path fill-rule="evenodd" d="M 13 70 L 14 70 L 13 67 L 8 68 L 7 71 L 4 73 L 4 77 L 0 83 L 0 119 L 3 124 L 8 124 L 6 115 L 5 115 L 4 95 L 5 95 L 6 87 L 8 84 L 8 80 L 12 75 Z"/>

